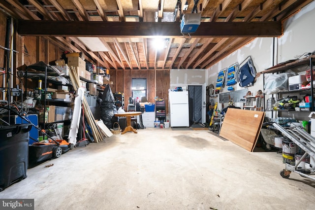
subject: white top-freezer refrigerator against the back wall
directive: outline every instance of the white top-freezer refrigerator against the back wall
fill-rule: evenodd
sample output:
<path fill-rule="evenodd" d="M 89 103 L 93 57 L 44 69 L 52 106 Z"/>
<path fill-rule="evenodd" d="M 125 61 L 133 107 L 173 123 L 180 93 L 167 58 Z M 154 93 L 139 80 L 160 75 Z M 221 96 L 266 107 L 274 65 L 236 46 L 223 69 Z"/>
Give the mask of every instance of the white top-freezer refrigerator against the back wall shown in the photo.
<path fill-rule="evenodd" d="M 168 93 L 171 127 L 189 127 L 188 91 Z"/>

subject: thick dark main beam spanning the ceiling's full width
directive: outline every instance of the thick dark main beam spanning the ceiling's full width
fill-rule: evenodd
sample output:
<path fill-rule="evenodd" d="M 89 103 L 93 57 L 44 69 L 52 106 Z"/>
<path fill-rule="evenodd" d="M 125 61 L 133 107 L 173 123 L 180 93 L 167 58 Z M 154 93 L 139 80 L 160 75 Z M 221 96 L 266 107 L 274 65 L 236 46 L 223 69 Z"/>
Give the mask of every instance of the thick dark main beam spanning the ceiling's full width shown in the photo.
<path fill-rule="evenodd" d="M 19 20 L 19 35 L 150 37 L 183 36 L 179 23 L 83 22 Z M 192 37 L 273 37 L 282 35 L 281 22 L 201 23 Z"/>

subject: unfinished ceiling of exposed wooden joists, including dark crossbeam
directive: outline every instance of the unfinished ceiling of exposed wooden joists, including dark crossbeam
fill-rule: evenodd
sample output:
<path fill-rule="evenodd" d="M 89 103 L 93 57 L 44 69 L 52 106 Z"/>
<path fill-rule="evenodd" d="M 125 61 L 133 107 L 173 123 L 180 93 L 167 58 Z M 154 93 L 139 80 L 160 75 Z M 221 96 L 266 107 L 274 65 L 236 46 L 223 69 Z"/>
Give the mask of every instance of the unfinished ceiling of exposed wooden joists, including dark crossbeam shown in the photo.
<path fill-rule="evenodd" d="M 209 68 L 255 37 L 279 36 L 282 21 L 312 1 L 1 0 L 0 7 L 19 20 L 20 35 L 45 36 L 99 66 L 164 70 Z M 184 37 L 180 11 L 192 10 L 201 25 Z M 155 35 L 167 39 L 160 50 Z"/>

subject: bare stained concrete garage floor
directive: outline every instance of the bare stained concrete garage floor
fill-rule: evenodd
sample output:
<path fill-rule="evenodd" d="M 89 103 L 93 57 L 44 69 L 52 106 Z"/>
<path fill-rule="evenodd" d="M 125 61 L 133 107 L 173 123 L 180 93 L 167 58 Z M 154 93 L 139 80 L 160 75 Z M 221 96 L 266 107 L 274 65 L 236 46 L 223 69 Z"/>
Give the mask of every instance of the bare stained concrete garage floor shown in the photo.
<path fill-rule="evenodd" d="M 315 209 L 315 182 L 282 169 L 281 154 L 211 131 L 148 128 L 29 169 L 0 198 L 35 199 L 35 210 Z"/>

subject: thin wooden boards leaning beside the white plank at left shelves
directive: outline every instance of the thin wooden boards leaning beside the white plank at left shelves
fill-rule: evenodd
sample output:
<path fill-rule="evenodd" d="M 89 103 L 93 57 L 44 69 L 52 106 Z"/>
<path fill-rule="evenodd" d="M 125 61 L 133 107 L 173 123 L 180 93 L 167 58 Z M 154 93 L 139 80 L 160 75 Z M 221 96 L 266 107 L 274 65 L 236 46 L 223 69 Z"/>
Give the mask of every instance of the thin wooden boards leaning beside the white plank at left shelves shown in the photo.
<path fill-rule="evenodd" d="M 80 77 L 77 72 L 78 71 L 75 67 L 70 67 L 69 76 L 75 91 L 80 87 Z M 111 137 L 113 135 L 105 124 L 99 126 L 99 123 L 95 121 L 95 118 L 85 97 L 83 97 L 83 108 L 85 117 L 92 129 L 93 137 L 96 143 L 103 141 L 105 137 Z"/>

